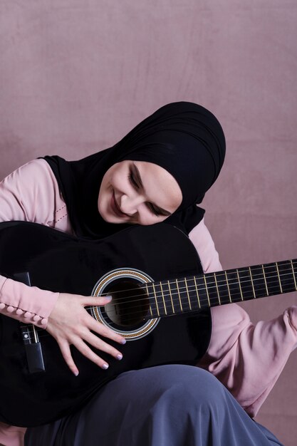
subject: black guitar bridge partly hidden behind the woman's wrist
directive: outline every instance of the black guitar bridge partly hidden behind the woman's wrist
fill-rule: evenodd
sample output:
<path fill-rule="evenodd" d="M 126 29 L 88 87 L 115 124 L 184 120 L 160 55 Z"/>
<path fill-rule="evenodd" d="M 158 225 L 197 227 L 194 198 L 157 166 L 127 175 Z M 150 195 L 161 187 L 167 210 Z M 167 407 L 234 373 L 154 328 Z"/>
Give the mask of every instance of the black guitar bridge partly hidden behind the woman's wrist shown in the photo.
<path fill-rule="evenodd" d="M 14 279 L 31 286 L 28 272 L 14 274 Z M 46 371 L 36 327 L 33 324 L 21 325 L 21 337 L 25 346 L 29 373 Z"/>

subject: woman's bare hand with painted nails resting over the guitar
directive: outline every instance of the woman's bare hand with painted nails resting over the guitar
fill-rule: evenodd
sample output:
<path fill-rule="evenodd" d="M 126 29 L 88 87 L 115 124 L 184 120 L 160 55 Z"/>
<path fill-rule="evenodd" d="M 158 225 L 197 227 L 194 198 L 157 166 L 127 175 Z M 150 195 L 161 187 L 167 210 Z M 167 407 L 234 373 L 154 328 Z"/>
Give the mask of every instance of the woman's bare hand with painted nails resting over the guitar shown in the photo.
<path fill-rule="evenodd" d="M 75 346 L 83 356 L 103 369 L 108 368 L 108 363 L 94 353 L 87 343 L 98 350 L 109 353 L 118 360 L 123 357 L 120 351 L 110 346 L 98 336 L 95 336 L 92 331 L 120 344 L 126 342 L 125 338 L 114 333 L 102 323 L 95 321 L 88 311 L 85 310 L 85 306 L 103 306 L 108 304 L 108 302 L 110 302 L 110 298 L 108 297 L 60 293 L 56 305 L 53 307 L 50 316 L 48 316 L 46 330 L 58 342 L 63 358 L 75 375 L 78 375 L 78 368 L 71 356 L 71 345 Z"/>

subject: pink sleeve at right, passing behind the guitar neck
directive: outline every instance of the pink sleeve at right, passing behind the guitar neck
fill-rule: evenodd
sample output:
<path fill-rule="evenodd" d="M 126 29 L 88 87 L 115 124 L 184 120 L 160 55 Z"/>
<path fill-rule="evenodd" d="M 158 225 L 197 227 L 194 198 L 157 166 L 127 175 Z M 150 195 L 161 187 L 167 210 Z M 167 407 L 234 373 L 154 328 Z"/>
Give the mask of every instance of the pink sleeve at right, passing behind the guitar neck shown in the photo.
<path fill-rule="evenodd" d="M 204 272 L 222 270 L 204 221 L 189 234 Z M 212 337 L 199 367 L 209 370 L 254 417 L 297 343 L 297 306 L 253 325 L 236 304 L 212 308 Z"/>

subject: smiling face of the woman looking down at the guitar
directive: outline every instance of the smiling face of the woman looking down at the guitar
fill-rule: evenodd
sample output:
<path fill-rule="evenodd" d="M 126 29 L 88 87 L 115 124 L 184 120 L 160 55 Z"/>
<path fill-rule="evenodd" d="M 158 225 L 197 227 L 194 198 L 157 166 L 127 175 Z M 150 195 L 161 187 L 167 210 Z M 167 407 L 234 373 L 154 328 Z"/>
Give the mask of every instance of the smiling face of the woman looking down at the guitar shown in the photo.
<path fill-rule="evenodd" d="M 167 170 L 152 162 L 125 160 L 105 173 L 98 210 L 110 223 L 155 224 L 169 217 L 181 202 L 182 191 Z"/>

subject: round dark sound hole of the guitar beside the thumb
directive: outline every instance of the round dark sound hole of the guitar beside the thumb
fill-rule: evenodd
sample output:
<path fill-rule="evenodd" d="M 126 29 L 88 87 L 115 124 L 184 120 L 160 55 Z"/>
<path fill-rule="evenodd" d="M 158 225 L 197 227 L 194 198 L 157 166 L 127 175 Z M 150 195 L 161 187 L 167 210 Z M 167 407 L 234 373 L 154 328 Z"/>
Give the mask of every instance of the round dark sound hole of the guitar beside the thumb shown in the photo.
<path fill-rule="evenodd" d="M 110 304 L 105 305 L 105 313 L 110 321 L 124 327 L 143 323 L 150 304 L 142 287 L 143 284 L 133 279 L 118 279 L 104 290 L 105 294 L 113 297 Z"/>

